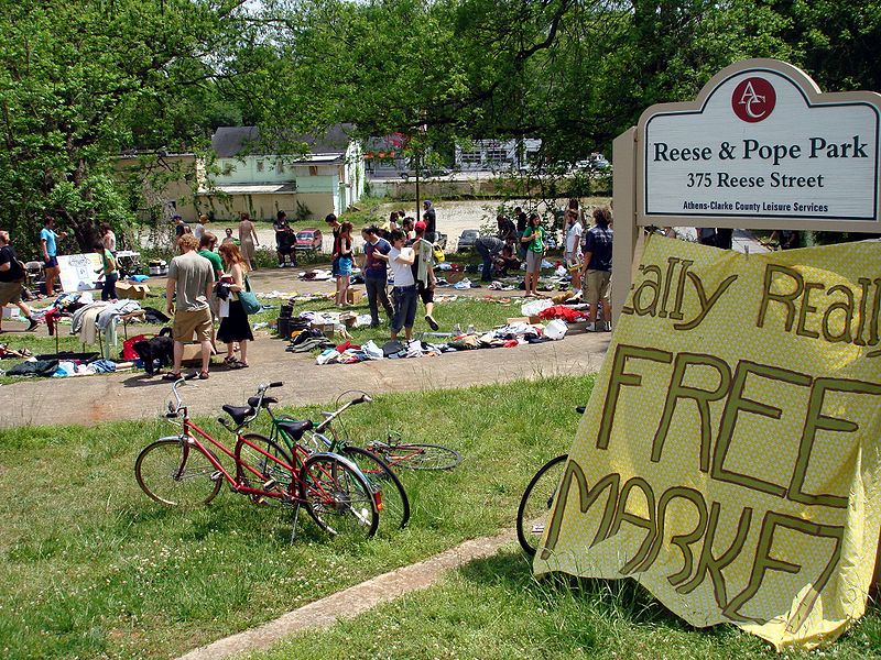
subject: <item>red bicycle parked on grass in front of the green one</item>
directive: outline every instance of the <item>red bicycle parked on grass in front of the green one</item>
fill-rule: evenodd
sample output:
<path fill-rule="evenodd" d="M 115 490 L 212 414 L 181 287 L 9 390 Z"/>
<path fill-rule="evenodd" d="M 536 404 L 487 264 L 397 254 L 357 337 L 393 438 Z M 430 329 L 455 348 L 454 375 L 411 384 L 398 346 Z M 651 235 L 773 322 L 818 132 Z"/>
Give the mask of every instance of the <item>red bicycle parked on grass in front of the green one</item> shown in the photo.
<path fill-rule="evenodd" d="M 294 444 L 290 460 L 287 452 L 272 447 L 271 441 L 254 443 L 239 432 L 257 417 L 267 389 L 282 383 L 260 385 L 258 406 L 224 406 L 236 426 L 230 428 L 222 417 L 218 421 L 236 435 L 235 451 L 189 418 L 177 392 L 184 383 L 181 378 L 172 386 L 177 403 L 168 403 L 165 415 L 168 419 L 183 416 L 181 432 L 148 444 L 134 463 L 138 485 L 150 498 L 166 506 L 208 504 L 226 481 L 233 493 L 246 495 L 255 504 L 275 502 L 292 506 L 292 541 L 301 506 L 331 535 L 369 538 L 376 534 L 382 508 L 381 491 L 371 487 L 351 461 L 329 452 L 309 453 L 298 443 Z M 282 424 L 294 440 L 300 440 L 311 426 L 308 421 Z M 235 461 L 235 471 L 224 468 L 208 443 Z"/>

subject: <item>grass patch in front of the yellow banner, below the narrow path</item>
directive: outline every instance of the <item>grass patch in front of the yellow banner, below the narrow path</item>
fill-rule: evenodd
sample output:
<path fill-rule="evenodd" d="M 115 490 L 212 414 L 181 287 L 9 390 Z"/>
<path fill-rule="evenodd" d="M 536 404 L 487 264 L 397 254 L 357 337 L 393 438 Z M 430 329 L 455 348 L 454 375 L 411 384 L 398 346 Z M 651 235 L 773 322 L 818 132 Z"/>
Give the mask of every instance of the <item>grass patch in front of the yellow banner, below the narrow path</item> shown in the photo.
<path fill-rule="evenodd" d="M 519 548 L 475 561 L 437 586 L 326 631 L 291 637 L 250 660 L 315 658 L 733 659 L 878 658 L 881 617 L 815 652 L 777 654 L 733 626 L 695 629 L 633 581 L 536 581 Z"/>

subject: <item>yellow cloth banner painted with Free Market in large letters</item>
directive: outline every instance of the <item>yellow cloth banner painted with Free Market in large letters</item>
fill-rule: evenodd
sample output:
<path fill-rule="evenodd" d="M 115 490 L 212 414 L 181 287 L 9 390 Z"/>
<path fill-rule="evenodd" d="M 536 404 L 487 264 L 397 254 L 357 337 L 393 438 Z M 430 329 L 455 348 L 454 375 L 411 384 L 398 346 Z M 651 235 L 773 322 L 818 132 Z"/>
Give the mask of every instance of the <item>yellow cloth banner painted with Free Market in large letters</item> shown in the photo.
<path fill-rule="evenodd" d="M 652 238 L 536 573 L 640 581 L 777 649 L 866 608 L 879 539 L 881 243 Z"/>

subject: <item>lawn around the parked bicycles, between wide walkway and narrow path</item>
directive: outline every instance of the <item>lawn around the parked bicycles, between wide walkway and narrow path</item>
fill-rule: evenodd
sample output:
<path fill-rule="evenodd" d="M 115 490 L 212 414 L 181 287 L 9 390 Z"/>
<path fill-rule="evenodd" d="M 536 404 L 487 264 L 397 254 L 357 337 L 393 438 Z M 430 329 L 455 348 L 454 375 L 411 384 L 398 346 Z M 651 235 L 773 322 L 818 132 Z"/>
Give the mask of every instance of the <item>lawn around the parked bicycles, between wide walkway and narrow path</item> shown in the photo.
<path fill-rule="evenodd" d="M 133 465 L 145 444 L 173 435 L 165 421 L 3 431 L 0 656 L 174 657 L 509 528 L 531 475 L 567 450 L 573 407 L 591 385 L 555 377 L 380 396 L 352 409 L 355 439 L 396 429 L 465 457 L 450 472 L 401 471 L 410 527 L 362 542 L 329 539 L 305 518 L 291 546 L 286 513 L 226 488 L 207 507 L 162 508 L 141 493 Z"/>

